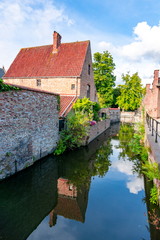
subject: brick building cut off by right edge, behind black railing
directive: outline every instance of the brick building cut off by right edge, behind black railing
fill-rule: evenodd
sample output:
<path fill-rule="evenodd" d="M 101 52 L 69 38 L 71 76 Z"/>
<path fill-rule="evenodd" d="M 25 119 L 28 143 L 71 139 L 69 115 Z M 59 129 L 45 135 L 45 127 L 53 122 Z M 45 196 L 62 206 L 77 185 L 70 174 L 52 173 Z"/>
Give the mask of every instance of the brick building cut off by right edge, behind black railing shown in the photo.
<path fill-rule="evenodd" d="M 153 118 L 160 118 L 160 71 L 154 71 L 154 80 L 151 84 L 146 84 L 146 95 L 143 105 L 148 114 Z"/>

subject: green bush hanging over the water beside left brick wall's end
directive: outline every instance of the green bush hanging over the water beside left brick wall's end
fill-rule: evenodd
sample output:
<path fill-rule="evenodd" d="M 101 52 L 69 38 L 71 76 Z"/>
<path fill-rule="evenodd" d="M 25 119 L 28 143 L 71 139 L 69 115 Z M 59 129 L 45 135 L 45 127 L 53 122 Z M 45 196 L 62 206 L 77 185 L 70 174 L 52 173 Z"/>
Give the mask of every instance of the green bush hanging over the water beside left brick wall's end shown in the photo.
<path fill-rule="evenodd" d="M 62 154 L 66 149 L 72 150 L 80 147 L 88 135 L 89 119 L 84 112 L 68 114 L 66 129 L 61 131 L 55 155 Z"/>

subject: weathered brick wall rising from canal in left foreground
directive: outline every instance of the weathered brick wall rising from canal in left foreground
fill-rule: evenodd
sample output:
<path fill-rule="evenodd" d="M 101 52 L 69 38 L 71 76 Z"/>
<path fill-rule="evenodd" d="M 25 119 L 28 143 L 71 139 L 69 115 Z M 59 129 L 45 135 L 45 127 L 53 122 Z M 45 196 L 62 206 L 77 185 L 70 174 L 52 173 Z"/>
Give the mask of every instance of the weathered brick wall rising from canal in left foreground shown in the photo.
<path fill-rule="evenodd" d="M 0 179 L 51 153 L 58 138 L 56 95 L 0 93 Z"/>

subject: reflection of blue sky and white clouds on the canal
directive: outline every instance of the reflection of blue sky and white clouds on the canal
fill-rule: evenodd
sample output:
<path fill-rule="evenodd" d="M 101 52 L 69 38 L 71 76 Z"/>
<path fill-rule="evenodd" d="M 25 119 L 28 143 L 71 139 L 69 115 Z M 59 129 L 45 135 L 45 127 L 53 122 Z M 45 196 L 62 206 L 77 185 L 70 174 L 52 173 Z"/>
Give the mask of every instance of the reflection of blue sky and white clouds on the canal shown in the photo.
<path fill-rule="evenodd" d="M 92 179 L 85 223 L 58 216 L 57 224 L 50 228 L 46 217 L 27 240 L 150 239 L 142 202 L 143 180 L 133 175 L 131 162 L 118 160 L 116 143 L 112 141 L 113 164 L 108 173 Z"/>

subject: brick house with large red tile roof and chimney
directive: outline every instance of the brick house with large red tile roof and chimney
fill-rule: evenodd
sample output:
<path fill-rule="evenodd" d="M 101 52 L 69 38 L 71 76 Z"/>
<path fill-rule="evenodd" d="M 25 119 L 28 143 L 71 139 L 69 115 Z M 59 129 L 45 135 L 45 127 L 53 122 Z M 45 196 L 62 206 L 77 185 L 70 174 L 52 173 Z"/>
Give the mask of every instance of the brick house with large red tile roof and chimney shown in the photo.
<path fill-rule="evenodd" d="M 60 94 L 60 117 L 65 117 L 77 98 L 97 101 L 90 41 L 22 48 L 3 77 L 6 83 Z"/>

